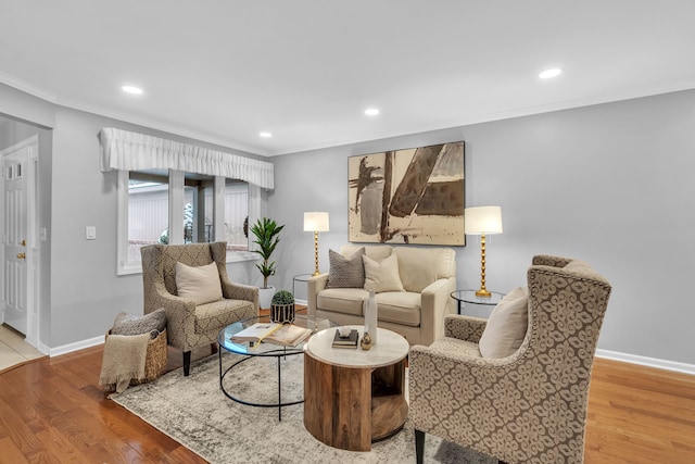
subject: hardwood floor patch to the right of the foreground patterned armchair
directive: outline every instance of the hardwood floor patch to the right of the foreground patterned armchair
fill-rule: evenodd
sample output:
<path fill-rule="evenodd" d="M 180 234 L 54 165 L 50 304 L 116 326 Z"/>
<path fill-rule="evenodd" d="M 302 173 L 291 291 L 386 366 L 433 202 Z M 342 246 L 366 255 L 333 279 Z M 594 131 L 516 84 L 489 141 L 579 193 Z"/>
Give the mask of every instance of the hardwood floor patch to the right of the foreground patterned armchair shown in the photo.
<path fill-rule="evenodd" d="M 695 463 L 695 376 L 596 359 L 586 463 Z"/>

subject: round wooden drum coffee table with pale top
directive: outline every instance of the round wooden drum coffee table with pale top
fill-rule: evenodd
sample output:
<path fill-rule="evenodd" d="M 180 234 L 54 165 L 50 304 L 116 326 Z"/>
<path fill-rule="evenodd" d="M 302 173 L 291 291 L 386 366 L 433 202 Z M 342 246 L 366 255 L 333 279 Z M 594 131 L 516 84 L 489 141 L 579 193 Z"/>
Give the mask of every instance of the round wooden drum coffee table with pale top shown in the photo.
<path fill-rule="evenodd" d="M 363 326 L 350 326 L 359 331 Z M 370 350 L 332 348 L 336 328 L 314 335 L 304 347 L 304 426 L 333 448 L 369 451 L 371 442 L 403 428 L 408 342 L 379 328 Z"/>

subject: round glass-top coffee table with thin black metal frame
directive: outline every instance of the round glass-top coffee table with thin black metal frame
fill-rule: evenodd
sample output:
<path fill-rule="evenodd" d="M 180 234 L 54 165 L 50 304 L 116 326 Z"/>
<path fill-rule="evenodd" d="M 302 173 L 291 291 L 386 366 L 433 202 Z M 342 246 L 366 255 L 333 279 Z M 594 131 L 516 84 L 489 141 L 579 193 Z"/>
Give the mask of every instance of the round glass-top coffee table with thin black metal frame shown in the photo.
<path fill-rule="evenodd" d="M 303 403 L 304 399 L 293 400 L 293 401 L 282 401 L 282 365 L 281 359 L 285 356 L 292 356 L 296 354 L 301 354 L 304 351 L 304 341 L 300 342 L 295 347 L 287 347 L 282 344 L 275 344 L 271 342 L 263 341 L 261 343 L 257 342 L 235 342 L 232 341 L 232 337 L 239 334 L 244 328 L 252 326 L 255 323 L 270 323 L 269 315 L 263 315 L 257 317 L 251 317 L 244 321 L 240 321 L 238 323 L 231 324 L 219 331 L 217 335 L 217 344 L 219 346 L 219 350 L 217 350 L 219 358 L 219 388 L 223 393 L 230 400 L 233 400 L 241 404 L 247 404 L 250 406 L 258 406 L 258 407 L 277 407 L 278 409 L 278 421 L 282 421 L 282 406 L 289 406 L 292 404 Z M 323 317 L 308 316 L 306 314 L 296 314 L 294 316 L 294 325 L 299 327 L 309 328 L 312 329 L 312 334 L 316 334 L 317 331 L 324 330 L 329 327 L 334 327 L 336 324 L 329 319 Z M 311 336 L 309 336 L 311 337 Z M 223 367 L 223 351 L 227 351 L 235 354 L 240 354 L 242 358 L 238 361 L 235 361 L 230 366 L 224 368 Z M 254 358 L 275 358 L 277 359 L 277 383 L 278 383 L 278 397 L 277 401 L 273 402 L 255 402 L 255 401 L 247 401 L 243 400 L 225 387 L 225 378 L 227 375 L 231 375 L 233 368 L 244 361 L 252 360 Z"/>

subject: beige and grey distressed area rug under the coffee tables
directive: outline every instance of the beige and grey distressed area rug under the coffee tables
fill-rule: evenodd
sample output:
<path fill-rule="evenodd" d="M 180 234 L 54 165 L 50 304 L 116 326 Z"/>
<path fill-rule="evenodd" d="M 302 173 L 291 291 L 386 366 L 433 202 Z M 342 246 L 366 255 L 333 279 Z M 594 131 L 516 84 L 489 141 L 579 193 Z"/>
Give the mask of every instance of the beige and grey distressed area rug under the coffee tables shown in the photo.
<path fill-rule="evenodd" d="M 304 396 L 302 358 L 281 360 L 283 402 Z M 225 368 L 237 359 L 225 353 Z M 255 358 L 239 364 L 226 376 L 225 388 L 245 401 L 276 402 L 276 359 Z M 415 463 L 409 422 L 395 436 L 372 443 L 368 452 L 329 447 L 304 428 L 303 404 L 282 407 L 282 421 L 278 421 L 277 407 L 254 407 L 228 399 L 219 388 L 217 355 L 192 364 L 188 377 L 181 369 L 173 371 L 111 398 L 212 464 Z M 494 464 L 496 460 L 428 435 L 425 462 Z"/>

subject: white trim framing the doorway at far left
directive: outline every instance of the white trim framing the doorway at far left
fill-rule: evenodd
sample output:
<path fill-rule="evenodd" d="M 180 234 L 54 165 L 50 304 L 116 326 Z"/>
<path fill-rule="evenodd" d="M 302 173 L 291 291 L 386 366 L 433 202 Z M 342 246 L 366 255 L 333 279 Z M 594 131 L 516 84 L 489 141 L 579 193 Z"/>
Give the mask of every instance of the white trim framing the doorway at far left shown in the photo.
<path fill-rule="evenodd" d="M 27 217 L 27 283 L 26 283 L 26 309 L 27 309 L 27 321 L 26 321 L 26 334 L 25 341 L 33 346 L 34 348 L 39 348 L 39 327 L 40 327 L 40 312 L 38 311 L 38 292 L 39 288 L 38 279 L 39 279 L 39 234 L 38 234 L 38 204 L 37 204 L 37 174 L 38 174 L 38 153 L 39 153 L 39 136 L 35 134 L 28 137 L 25 140 L 22 140 L 17 143 L 14 143 L 11 147 L 8 147 L 3 150 L 0 150 L 0 159 L 15 152 L 20 149 L 23 149 L 27 146 L 34 146 L 34 149 L 29 150 L 28 153 L 28 165 L 26 170 L 26 192 L 27 192 L 27 202 L 26 202 L 26 217 Z M 4 173 L 0 177 L 0 208 L 2 209 L 3 214 L 0 214 L 0 230 L 4 229 L 3 222 L 5 221 L 4 215 L 4 181 L 5 176 Z M 1 233 L 0 233 L 1 234 Z M 4 242 L 4 237 L 0 237 L 2 242 Z M 4 251 L 2 251 L 4 253 Z M 4 262 L 4 255 L 1 256 Z M 0 281 L 4 283 L 4 269 L 0 268 Z M 4 285 L 0 288 L 0 291 L 4 292 Z M 4 301 L 4 294 L 2 296 L 2 301 Z M 1 322 L 4 322 L 4 306 L 0 309 Z"/>

